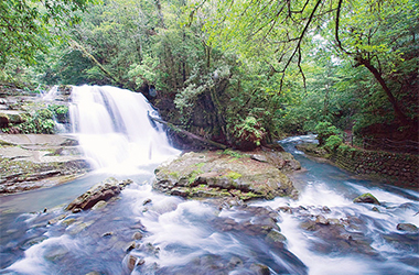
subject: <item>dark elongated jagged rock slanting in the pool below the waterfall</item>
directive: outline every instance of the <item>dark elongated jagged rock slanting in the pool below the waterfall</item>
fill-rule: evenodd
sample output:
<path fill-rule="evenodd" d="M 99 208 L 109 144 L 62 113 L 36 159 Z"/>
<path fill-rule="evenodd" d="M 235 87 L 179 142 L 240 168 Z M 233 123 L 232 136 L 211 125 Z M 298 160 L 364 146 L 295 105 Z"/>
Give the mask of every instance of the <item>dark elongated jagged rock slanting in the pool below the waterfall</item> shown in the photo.
<path fill-rule="evenodd" d="M 107 201 L 110 198 L 120 194 L 120 191 L 132 180 L 126 179 L 118 182 L 116 178 L 107 178 L 104 182 L 95 185 L 88 191 L 73 200 L 65 210 L 73 211 L 74 209 L 87 210 L 95 206 L 98 201 Z M 103 205 L 103 204 L 101 204 Z"/>

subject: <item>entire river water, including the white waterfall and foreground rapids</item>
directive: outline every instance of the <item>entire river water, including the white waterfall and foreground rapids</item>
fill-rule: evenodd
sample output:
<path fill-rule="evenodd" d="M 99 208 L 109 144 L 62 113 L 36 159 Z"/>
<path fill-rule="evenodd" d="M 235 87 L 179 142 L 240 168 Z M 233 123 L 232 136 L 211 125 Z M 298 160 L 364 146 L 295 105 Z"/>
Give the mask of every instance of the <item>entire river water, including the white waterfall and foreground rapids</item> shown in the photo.
<path fill-rule="evenodd" d="M 419 226 L 419 194 L 305 157 L 294 145 L 313 136 L 280 142 L 307 169 L 293 176 L 299 199 L 221 209 L 151 189 L 153 169 L 179 152 L 149 120 L 157 114 L 141 95 L 75 87 L 73 103 L 74 132 L 97 172 L 0 198 L 0 274 L 419 274 L 418 233 L 396 228 Z M 60 205 L 108 176 L 133 184 L 103 209 L 61 217 Z M 352 202 L 364 193 L 383 204 Z M 226 227 L 257 223 L 264 209 L 276 217 L 284 245 Z"/>

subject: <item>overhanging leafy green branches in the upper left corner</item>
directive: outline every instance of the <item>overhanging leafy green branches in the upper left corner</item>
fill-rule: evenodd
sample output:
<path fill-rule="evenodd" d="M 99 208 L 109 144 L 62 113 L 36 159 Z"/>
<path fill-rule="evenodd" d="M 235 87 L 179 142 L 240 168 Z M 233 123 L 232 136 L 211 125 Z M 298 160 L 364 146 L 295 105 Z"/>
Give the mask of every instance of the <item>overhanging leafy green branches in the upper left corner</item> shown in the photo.
<path fill-rule="evenodd" d="M 0 1 L 0 80 L 11 81 L 25 65 L 36 63 L 37 52 L 47 53 L 62 40 L 61 31 L 79 22 L 76 12 L 86 10 L 89 2 L 93 1 Z"/>

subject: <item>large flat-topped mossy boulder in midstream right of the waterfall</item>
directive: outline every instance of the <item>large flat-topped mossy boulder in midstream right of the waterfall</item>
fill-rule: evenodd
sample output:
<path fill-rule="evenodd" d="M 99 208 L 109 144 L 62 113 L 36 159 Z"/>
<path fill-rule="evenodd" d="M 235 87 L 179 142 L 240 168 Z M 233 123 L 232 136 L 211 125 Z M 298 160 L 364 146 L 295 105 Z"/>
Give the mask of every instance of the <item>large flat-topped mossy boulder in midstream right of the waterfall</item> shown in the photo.
<path fill-rule="evenodd" d="M 189 198 L 297 196 L 292 182 L 275 165 L 236 151 L 183 154 L 155 169 L 153 188 Z"/>

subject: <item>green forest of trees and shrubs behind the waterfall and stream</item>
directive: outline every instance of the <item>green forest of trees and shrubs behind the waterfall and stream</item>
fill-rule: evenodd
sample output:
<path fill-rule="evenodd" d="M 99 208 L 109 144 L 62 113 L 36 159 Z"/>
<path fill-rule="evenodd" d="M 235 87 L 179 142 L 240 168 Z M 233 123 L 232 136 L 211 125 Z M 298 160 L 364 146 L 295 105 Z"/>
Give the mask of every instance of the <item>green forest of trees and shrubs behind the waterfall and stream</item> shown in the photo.
<path fill-rule="evenodd" d="M 239 148 L 318 132 L 324 142 L 336 134 L 409 151 L 406 142 L 418 142 L 418 6 L 8 0 L 0 3 L 0 81 L 29 92 L 127 88 L 164 120 Z"/>

